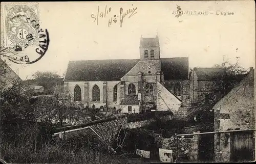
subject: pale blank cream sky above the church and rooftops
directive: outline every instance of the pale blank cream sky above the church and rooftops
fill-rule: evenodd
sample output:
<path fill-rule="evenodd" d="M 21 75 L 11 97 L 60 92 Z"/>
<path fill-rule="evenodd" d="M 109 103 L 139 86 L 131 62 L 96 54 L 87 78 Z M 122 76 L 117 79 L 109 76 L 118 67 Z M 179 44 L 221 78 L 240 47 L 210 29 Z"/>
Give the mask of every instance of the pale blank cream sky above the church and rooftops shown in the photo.
<path fill-rule="evenodd" d="M 177 5 L 184 13 L 180 17 L 173 14 Z M 190 68 L 221 64 L 223 56 L 231 63 L 239 58 L 246 69 L 255 68 L 254 6 L 254 1 L 38 2 L 40 27 L 49 32 L 48 50 L 36 63 L 10 67 L 22 79 L 31 79 L 36 71 L 63 75 L 74 60 L 139 59 L 141 35 L 158 35 L 160 57 L 188 57 Z M 98 9 L 103 18 L 97 20 Z M 104 17 L 105 9 L 109 12 Z M 129 9 L 120 27 L 119 18 Z"/>

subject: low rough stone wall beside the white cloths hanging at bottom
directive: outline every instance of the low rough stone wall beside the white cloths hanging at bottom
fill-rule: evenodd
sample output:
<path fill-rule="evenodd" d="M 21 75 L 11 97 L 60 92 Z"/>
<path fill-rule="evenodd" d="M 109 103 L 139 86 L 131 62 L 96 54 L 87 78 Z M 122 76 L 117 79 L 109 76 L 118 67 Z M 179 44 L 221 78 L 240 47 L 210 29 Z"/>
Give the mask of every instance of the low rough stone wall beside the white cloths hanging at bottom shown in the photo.
<path fill-rule="evenodd" d="M 177 138 L 172 136 L 168 139 L 163 139 L 162 148 L 173 150 L 174 160 L 177 157 Z M 198 135 L 193 135 L 188 138 L 178 137 L 178 156 L 185 156 L 190 161 L 197 161 L 198 159 Z"/>

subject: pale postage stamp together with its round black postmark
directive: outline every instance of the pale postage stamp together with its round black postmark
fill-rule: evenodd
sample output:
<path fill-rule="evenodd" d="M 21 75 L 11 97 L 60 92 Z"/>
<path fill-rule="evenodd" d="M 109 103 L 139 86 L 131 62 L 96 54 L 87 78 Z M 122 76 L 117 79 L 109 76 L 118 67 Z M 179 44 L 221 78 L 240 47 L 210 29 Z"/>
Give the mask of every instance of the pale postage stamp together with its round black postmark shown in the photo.
<path fill-rule="evenodd" d="M 1 7 L 4 9 L 1 51 L 17 64 L 37 62 L 46 53 L 50 41 L 48 30 L 40 28 L 38 4 L 6 3 Z"/>

